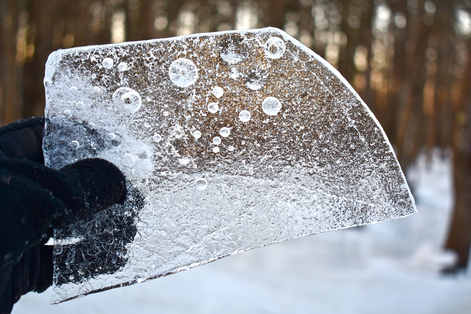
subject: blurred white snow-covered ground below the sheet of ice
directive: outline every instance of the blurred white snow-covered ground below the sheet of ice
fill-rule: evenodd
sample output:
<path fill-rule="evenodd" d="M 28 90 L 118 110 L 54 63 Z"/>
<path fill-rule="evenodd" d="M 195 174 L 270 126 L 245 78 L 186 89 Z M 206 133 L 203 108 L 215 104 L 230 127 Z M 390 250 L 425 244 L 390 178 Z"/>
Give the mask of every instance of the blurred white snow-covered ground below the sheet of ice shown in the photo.
<path fill-rule="evenodd" d="M 471 313 L 471 275 L 444 277 L 452 206 L 449 159 L 412 171 L 418 214 L 250 250 L 167 277 L 13 313 Z"/>

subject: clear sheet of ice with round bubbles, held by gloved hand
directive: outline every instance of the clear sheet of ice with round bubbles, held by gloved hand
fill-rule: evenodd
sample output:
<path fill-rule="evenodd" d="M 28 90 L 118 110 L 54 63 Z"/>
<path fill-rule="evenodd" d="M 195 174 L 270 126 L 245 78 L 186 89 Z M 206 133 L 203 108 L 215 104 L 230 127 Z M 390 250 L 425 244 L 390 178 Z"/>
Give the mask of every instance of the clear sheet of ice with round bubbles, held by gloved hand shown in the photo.
<path fill-rule="evenodd" d="M 44 86 L 46 164 L 104 158 L 132 192 L 56 230 L 55 303 L 414 212 L 369 109 L 280 30 L 59 50 Z"/>

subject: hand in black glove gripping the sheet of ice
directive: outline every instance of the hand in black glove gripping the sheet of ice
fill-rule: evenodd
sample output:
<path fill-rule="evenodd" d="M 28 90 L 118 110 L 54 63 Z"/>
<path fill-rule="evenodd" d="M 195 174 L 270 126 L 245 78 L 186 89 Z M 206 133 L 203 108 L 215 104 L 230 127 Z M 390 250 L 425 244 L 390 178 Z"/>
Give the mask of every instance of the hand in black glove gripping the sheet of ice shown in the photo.
<path fill-rule="evenodd" d="M 44 166 L 44 118 L 0 128 L 0 311 L 52 284 L 53 228 L 89 219 L 126 199 L 125 177 L 108 161 Z"/>

